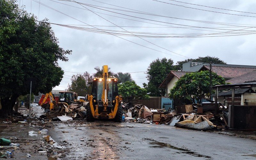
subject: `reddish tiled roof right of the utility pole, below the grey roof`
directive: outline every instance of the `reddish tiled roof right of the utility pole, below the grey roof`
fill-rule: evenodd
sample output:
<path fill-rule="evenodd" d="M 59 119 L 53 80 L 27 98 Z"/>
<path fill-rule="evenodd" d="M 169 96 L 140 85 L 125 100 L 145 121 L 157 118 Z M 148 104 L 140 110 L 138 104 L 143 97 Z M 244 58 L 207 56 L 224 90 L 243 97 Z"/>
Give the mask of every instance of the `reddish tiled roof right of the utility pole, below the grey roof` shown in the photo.
<path fill-rule="evenodd" d="M 210 70 L 210 66 L 203 66 L 199 71 L 201 70 Z M 255 68 L 212 66 L 212 72 L 216 73 L 219 76 L 222 76 L 223 78 L 234 78 L 252 72 L 254 70 Z"/>

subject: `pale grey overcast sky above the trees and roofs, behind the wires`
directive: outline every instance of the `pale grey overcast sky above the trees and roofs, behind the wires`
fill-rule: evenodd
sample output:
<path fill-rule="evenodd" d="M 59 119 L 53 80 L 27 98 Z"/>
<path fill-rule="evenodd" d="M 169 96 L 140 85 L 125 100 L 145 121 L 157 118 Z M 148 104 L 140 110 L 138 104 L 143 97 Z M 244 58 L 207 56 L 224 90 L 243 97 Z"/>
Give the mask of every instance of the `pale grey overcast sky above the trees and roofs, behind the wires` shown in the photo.
<path fill-rule="evenodd" d="M 254 0 L 40 0 L 40 5 L 39 0 L 18 0 L 17 3 L 38 20 L 47 18 L 51 23 L 83 27 L 51 25 L 60 47 L 73 51 L 68 62 L 59 61 L 65 74 L 56 90 L 67 88 L 71 76 L 76 74 L 71 72 L 95 73 L 93 68 L 102 65 L 108 65 L 114 73 L 138 72 L 131 75 L 142 86 L 148 82 L 144 71 L 149 64 L 164 57 L 176 63 L 209 55 L 228 64 L 255 65 Z"/>

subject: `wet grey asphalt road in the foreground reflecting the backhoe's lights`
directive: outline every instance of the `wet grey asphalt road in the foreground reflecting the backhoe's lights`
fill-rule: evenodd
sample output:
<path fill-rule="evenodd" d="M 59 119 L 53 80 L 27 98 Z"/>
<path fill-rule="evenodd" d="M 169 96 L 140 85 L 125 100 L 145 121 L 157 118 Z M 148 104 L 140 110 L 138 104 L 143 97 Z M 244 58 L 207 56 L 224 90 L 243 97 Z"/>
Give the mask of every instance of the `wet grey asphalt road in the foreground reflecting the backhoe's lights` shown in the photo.
<path fill-rule="evenodd" d="M 102 121 L 47 125 L 66 151 L 62 159 L 256 159 L 256 140 L 214 132 Z"/>

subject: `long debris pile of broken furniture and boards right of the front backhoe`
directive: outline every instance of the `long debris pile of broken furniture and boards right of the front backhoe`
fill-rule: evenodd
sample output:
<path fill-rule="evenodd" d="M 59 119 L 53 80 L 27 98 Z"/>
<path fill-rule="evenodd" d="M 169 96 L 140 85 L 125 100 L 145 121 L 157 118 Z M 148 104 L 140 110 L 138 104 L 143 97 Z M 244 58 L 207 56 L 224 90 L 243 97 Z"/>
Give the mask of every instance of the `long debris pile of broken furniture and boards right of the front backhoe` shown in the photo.
<path fill-rule="evenodd" d="M 218 105 L 220 112 L 217 116 L 223 121 L 223 123 L 218 125 L 224 123 L 227 125 L 228 108 L 221 103 L 218 103 Z M 216 122 L 216 119 L 212 114 L 215 110 L 215 103 L 213 102 L 204 102 L 202 105 L 190 104 L 177 106 L 176 110 L 165 110 L 164 108 L 149 109 L 142 104 L 132 106 L 123 103 L 122 106 L 123 117 L 126 122 L 162 124 L 203 131 L 217 128 L 217 125 L 212 123 Z"/>

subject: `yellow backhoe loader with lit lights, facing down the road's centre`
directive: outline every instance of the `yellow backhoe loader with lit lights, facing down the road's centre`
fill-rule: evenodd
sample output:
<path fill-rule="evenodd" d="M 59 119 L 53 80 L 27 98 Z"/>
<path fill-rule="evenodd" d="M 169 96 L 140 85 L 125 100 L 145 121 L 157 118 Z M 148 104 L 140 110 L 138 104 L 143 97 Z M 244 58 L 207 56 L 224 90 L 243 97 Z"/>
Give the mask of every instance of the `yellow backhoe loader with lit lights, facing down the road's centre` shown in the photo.
<path fill-rule="evenodd" d="M 122 121 L 122 96 L 118 95 L 117 79 L 108 78 L 108 66 L 103 66 L 103 78 L 93 78 L 92 93 L 88 95 L 86 120 L 95 119 Z"/>

